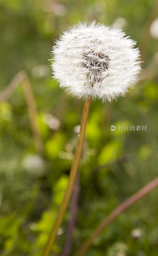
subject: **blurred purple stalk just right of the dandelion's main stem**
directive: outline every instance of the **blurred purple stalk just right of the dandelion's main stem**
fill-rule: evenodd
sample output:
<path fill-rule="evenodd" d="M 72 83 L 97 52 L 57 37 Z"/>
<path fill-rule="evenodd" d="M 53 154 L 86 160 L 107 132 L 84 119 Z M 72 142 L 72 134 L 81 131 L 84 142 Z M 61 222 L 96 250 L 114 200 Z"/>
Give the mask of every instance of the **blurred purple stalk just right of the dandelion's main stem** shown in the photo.
<path fill-rule="evenodd" d="M 63 250 L 61 256 L 68 256 L 71 252 L 72 236 L 73 236 L 73 231 L 74 231 L 75 222 L 76 222 L 78 197 L 79 197 L 79 172 L 77 172 L 74 187 L 73 187 L 73 193 L 72 193 L 72 199 L 71 199 L 70 220 L 69 220 L 68 229 L 67 229 L 67 239 L 66 239 L 65 247 L 64 247 L 64 250 Z"/>

